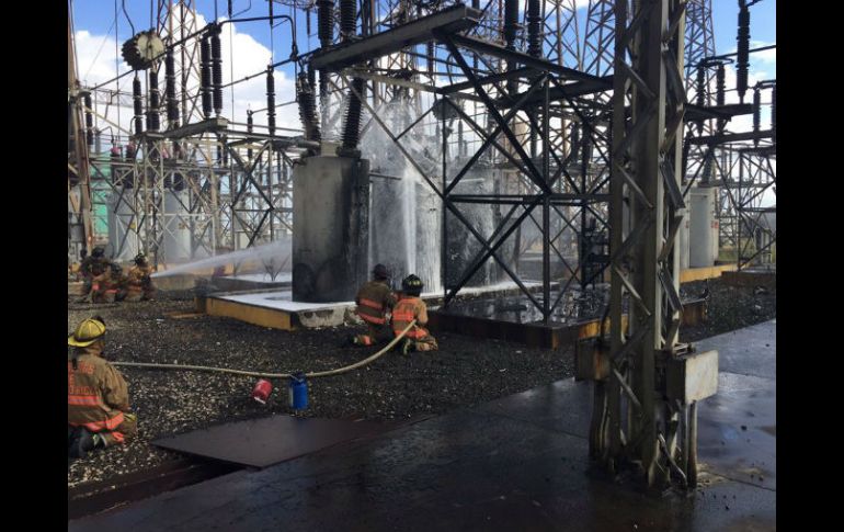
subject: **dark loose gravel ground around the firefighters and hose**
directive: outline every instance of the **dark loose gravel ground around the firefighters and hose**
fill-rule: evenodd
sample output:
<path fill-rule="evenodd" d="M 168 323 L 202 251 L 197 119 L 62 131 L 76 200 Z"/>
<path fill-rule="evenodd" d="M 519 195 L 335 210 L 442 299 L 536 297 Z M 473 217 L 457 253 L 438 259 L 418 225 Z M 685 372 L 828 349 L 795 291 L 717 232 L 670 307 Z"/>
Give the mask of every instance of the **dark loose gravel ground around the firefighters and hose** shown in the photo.
<path fill-rule="evenodd" d="M 776 290 L 727 286 L 720 281 L 684 284 L 684 297 L 709 288 L 708 321 L 681 329 L 682 341 L 697 341 L 776 317 Z M 354 328 L 295 332 L 266 329 L 229 318 L 191 313 L 189 293 L 159 293 L 136 304 L 84 305 L 68 297 L 68 330 L 101 315 L 107 326 L 110 360 L 187 363 L 266 372 L 319 371 L 347 365 L 372 350 L 342 348 Z M 437 335 L 441 351 L 406 359 L 388 353 L 374 364 L 344 375 L 311 380 L 310 407 L 323 418 L 402 419 L 442 414 L 458 407 L 552 383 L 573 375 L 570 350 L 529 349 L 497 340 Z M 209 425 L 289 412 L 286 383 L 266 405 L 250 399 L 255 380 L 213 373 L 121 369 L 138 414 L 139 434 L 132 443 L 92 453 L 68 464 L 68 486 L 136 472 L 178 457 L 150 441 Z"/>

